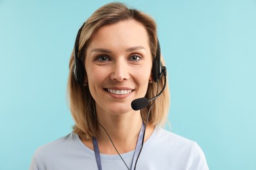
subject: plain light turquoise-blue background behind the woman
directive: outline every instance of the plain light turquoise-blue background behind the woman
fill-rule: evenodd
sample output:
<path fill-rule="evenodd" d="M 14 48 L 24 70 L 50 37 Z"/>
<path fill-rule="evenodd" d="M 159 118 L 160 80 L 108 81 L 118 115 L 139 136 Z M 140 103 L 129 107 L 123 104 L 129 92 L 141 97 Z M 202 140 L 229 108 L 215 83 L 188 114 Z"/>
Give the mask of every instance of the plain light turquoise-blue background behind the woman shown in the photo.
<path fill-rule="evenodd" d="M 0 0 L 0 169 L 28 169 L 38 146 L 72 131 L 75 35 L 108 2 Z M 171 130 L 197 141 L 210 169 L 256 169 L 256 1 L 126 3 L 158 23 Z"/>

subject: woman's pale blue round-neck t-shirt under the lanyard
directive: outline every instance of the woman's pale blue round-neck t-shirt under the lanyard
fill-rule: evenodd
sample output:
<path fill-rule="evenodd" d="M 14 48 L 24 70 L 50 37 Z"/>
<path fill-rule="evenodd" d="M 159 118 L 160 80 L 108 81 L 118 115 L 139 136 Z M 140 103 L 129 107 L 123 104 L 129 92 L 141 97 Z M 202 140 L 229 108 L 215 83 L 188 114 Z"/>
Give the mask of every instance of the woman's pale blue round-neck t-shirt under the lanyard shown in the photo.
<path fill-rule="evenodd" d="M 121 154 L 131 167 L 131 151 Z M 103 170 L 125 170 L 127 167 L 119 155 L 100 154 Z M 95 153 L 85 146 L 75 133 L 70 133 L 53 143 L 39 147 L 30 165 L 30 170 L 98 170 Z M 207 170 L 207 162 L 200 146 L 156 127 L 151 137 L 144 143 L 137 170 L 200 169 Z"/>

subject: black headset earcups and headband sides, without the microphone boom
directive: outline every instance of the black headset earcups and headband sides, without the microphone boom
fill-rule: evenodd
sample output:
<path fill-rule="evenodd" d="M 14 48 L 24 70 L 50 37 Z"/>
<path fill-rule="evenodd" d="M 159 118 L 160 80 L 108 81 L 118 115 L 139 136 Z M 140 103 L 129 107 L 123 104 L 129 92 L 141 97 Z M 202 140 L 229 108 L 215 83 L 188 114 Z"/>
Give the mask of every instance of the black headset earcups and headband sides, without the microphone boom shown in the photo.
<path fill-rule="evenodd" d="M 78 58 L 78 51 L 79 51 L 79 38 L 81 35 L 81 31 L 85 23 L 80 27 L 77 36 L 75 38 L 75 46 L 74 46 L 74 69 L 73 69 L 73 76 L 75 81 L 80 85 L 83 86 L 83 80 L 85 78 L 85 67 L 83 65 L 83 61 Z M 158 82 L 162 75 L 166 75 L 166 68 L 161 64 L 161 48 L 160 42 L 158 41 L 158 49 L 156 50 L 156 58 L 153 59 L 153 66 L 152 66 L 152 75 L 154 82 Z"/>

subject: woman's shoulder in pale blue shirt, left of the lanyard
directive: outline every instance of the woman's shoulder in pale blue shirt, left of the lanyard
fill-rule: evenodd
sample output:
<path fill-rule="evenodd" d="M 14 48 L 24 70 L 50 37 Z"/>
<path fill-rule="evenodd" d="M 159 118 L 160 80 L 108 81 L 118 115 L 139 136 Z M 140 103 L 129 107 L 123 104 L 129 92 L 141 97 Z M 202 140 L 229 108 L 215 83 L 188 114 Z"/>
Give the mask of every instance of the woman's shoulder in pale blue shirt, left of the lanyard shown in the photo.
<path fill-rule="evenodd" d="M 75 133 L 40 146 L 33 155 L 30 170 L 83 169 L 94 167 L 94 152 Z"/>

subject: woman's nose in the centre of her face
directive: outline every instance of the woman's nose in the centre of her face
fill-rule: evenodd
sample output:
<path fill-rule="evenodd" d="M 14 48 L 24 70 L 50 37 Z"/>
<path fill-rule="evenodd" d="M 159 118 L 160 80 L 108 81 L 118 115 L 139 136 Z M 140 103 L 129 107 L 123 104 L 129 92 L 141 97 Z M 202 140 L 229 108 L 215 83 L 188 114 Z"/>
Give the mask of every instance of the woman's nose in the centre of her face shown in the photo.
<path fill-rule="evenodd" d="M 125 61 L 116 61 L 112 65 L 112 74 L 110 75 L 111 80 L 123 81 L 128 80 L 129 67 Z"/>

